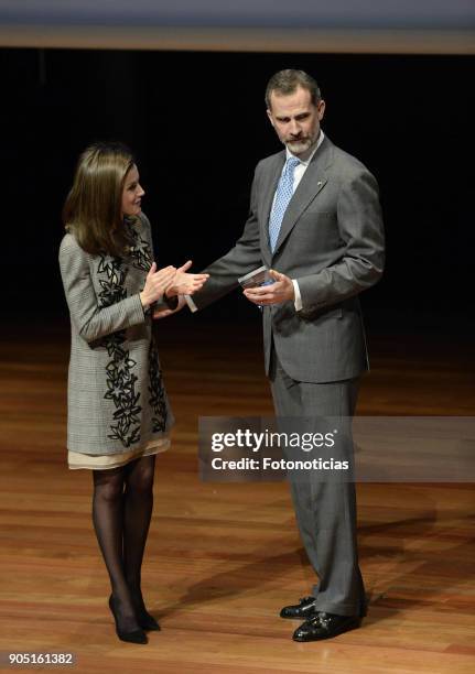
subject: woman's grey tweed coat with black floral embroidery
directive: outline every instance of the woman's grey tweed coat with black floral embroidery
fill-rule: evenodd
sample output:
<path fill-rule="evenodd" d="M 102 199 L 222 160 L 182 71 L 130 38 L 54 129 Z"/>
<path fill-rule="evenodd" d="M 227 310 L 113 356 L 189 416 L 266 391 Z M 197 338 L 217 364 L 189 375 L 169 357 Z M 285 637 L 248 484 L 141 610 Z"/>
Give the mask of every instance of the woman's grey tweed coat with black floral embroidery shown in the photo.
<path fill-rule="evenodd" d="M 173 415 L 152 320 L 139 293 L 153 261 L 150 224 L 130 220 L 126 258 L 90 256 L 66 233 L 60 268 L 71 314 L 67 447 L 118 454 L 163 436 Z"/>

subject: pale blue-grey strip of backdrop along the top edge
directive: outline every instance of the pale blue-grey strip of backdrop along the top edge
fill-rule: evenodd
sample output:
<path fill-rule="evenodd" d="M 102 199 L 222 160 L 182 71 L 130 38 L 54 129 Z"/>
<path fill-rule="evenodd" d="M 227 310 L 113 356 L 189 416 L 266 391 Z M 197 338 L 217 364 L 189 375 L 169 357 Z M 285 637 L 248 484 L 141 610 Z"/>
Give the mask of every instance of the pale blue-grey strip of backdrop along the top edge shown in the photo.
<path fill-rule="evenodd" d="M 0 0 L 4 46 L 473 53 L 472 0 Z"/>

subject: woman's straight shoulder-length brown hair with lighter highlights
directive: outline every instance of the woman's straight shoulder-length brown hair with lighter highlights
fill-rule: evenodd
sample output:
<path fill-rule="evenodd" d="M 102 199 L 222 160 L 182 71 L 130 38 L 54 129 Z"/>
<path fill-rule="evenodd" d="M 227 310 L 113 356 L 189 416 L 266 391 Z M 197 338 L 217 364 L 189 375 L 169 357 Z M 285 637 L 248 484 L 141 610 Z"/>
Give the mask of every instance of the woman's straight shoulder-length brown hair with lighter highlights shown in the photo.
<path fill-rule="evenodd" d="M 125 257 L 131 243 L 122 216 L 126 176 L 136 161 L 121 143 L 94 143 L 79 156 L 63 222 L 88 253 Z"/>

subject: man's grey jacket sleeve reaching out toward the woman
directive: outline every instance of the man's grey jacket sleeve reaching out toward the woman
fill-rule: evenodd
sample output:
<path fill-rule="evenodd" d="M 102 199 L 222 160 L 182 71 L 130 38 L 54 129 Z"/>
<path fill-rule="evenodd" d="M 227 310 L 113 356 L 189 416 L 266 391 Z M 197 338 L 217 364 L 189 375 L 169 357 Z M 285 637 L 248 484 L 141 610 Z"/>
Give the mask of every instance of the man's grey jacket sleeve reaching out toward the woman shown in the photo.
<path fill-rule="evenodd" d="M 242 235 L 226 254 L 203 270 L 203 272 L 209 274 L 209 279 L 203 289 L 192 297 L 197 308 L 203 308 L 235 290 L 239 285 L 239 276 L 244 276 L 262 264 L 257 215 L 257 176 L 258 172 L 256 171 L 251 188 L 249 215 Z"/>

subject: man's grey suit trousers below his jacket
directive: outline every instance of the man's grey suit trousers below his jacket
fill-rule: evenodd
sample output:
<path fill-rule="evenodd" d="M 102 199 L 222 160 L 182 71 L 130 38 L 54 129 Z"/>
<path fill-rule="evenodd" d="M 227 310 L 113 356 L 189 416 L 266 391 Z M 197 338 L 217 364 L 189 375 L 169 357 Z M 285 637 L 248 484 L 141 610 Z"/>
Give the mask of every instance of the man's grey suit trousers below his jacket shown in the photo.
<path fill-rule="evenodd" d="M 291 379 L 282 369 L 272 346 L 270 383 L 278 416 L 352 417 L 356 407 L 359 379 L 328 383 L 306 383 Z M 309 426 L 305 426 L 309 430 Z M 353 459 L 353 445 L 347 453 Z M 300 535 L 310 563 L 319 576 L 312 588 L 319 611 L 341 616 L 359 615 L 365 606 L 365 588 L 358 566 L 356 542 L 355 483 L 344 479 L 322 479 L 315 470 L 305 476 L 289 474 Z"/>

